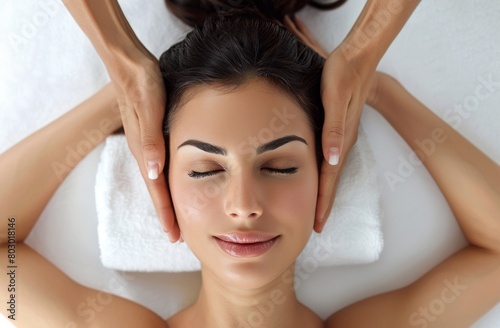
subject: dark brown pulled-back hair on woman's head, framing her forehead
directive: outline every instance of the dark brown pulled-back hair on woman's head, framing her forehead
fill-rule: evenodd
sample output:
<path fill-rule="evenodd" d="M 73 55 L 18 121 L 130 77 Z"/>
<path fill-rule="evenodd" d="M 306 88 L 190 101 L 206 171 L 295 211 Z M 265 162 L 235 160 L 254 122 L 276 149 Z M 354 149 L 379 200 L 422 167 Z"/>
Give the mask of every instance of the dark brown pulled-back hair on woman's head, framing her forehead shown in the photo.
<path fill-rule="evenodd" d="M 164 133 L 168 151 L 175 112 L 197 86 L 236 88 L 254 78 L 276 86 L 306 113 L 314 130 L 318 167 L 324 109 L 324 59 L 284 26 L 252 10 L 214 15 L 160 57 L 167 92 Z"/>

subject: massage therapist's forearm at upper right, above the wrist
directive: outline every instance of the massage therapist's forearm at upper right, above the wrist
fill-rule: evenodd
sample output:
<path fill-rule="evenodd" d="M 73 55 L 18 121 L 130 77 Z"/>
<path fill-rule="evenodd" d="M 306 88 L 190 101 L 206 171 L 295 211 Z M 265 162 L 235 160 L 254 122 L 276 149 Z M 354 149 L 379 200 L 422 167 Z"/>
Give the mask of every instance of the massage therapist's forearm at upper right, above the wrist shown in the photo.
<path fill-rule="evenodd" d="M 350 61 L 375 70 L 420 0 L 368 0 L 340 45 Z"/>

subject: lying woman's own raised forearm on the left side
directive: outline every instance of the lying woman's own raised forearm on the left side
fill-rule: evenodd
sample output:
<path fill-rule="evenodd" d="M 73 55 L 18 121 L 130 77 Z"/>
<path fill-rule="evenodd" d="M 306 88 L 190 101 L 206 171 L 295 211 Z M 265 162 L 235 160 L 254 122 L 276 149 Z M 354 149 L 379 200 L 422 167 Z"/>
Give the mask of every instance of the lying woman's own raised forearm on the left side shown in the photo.
<path fill-rule="evenodd" d="M 0 218 L 16 218 L 23 240 L 60 183 L 76 164 L 121 126 L 108 85 L 72 111 L 0 156 Z M 0 242 L 7 225 L 0 226 Z"/>

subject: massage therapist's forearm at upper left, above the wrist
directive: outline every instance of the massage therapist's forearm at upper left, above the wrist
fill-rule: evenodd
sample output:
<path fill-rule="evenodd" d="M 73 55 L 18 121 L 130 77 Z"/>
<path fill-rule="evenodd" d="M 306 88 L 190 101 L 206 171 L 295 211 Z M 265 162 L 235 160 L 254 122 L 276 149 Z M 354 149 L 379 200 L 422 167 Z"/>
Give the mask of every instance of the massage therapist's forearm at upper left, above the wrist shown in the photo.
<path fill-rule="evenodd" d="M 106 67 L 114 58 L 136 60 L 149 55 L 130 27 L 117 0 L 63 0 L 80 28 L 94 45 Z"/>

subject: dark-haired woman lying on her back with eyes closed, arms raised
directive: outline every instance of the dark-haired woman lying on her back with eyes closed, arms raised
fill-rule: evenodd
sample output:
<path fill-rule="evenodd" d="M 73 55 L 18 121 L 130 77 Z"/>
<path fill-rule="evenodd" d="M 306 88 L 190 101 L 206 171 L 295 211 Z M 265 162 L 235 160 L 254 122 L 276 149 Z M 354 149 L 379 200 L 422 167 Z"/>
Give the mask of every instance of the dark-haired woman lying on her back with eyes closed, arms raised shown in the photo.
<path fill-rule="evenodd" d="M 468 327 L 498 303 L 498 165 L 381 73 L 372 81 L 369 104 L 414 149 L 417 139 L 436 140 L 435 152 L 422 161 L 469 246 L 411 285 L 352 304 L 327 320 L 297 300 L 293 282 L 281 279 L 293 273 L 313 230 L 322 159 L 323 62 L 286 28 L 250 12 L 211 17 L 163 54 L 169 95 L 166 174 L 183 239 L 202 264 L 198 299 L 166 321 L 115 296 L 88 322 L 78 305 L 97 292 L 22 242 L 61 182 L 51 163 L 63 160 L 65 147 L 81 140 L 80 131 L 98 128 L 104 120 L 109 133 L 121 126 L 112 88 L 106 86 L 2 154 L 1 217 L 17 219 L 17 258 L 23 270 L 17 277 L 22 312 L 16 325 L 455 328 Z M 272 138 L 245 143 L 277 117 L 283 124 Z M 357 131 L 349 135 L 354 143 Z M 218 196 L 203 207 L 193 204 L 191 195 L 211 184 L 219 186 Z M 7 224 L 0 228 L 6 236 Z M 2 242 L 5 267 L 7 239 Z M 8 285 L 8 276 L 2 275 L 2 285 Z M 2 299 L 8 297 L 2 289 Z M 436 298 L 447 303 L 439 316 L 425 311 Z M 255 307 L 269 302 L 273 311 L 256 322 L 251 315 Z"/>

